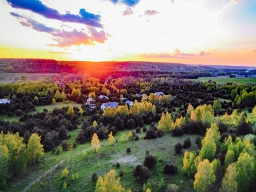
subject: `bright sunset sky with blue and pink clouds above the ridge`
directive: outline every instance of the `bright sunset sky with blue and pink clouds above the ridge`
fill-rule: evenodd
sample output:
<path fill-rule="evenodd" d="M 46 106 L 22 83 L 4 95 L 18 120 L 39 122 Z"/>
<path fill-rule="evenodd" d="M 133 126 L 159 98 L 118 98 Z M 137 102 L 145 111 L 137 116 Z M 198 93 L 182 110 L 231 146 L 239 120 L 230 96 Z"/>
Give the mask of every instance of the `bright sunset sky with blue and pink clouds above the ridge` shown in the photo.
<path fill-rule="evenodd" d="M 255 0 L 0 0 L 0 58 L 256 67 Z"/>

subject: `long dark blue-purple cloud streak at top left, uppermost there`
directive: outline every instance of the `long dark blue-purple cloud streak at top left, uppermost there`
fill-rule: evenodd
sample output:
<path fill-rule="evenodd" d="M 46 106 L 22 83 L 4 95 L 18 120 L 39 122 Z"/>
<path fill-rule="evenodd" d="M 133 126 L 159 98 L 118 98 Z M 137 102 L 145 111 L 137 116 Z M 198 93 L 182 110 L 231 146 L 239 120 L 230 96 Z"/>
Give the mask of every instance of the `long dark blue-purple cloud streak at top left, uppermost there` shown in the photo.
<path fill-rule="evenodd" d="M 86 12 L 85 9 L 79 11 L 79 15 L 65 13 L 64 15 L 53 8 L 49 8 L 39 0 L 6 0 L 13 8 L 21 8 L 38 13 L 47 19 L 56 19 L 63 22 L 76 22 L 86 24 L 87 26 L 102 28 L 100 24 L 100 15 Z M 15 16 L 16 13 L 12 13 Z M 18 14 L 16 14 L 18 15 Z M 16 16 L 15 16 L 16 17 Z"/>

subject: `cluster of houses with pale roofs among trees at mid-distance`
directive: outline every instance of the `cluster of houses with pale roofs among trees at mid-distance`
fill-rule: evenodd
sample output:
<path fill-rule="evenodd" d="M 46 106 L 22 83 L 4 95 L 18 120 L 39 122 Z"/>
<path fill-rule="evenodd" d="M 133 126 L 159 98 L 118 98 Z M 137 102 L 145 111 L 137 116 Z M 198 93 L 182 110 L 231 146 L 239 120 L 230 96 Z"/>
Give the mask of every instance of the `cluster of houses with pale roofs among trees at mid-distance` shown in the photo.
<path fill-rule="evenodd" d="M 157 96 L 160 96 L 160 95 L 164 95 L 164 93 L 163 92 L 156 92 L 156 93 L 154 93 L 155 95 L 157 95 Z M 140 97 L 142 97 L 142 95 L 143 94 L 139 94 L 139 96 Z M 98 99 L 109 99 L 107 96 L 105 96 L 105 95 L 99 95 L 99 97 L 98 97 Z M 132 106 L 132 104 L 134 104 L 134 102 L 133 101 L 131 101 L 131 100 L 127 100 L 127 98 L 122 98 L 122 100 L 124 100 L 125 101 L 125 104 L 127 104 L 127 106 L 130 108 L 131 106 Z M 88 98 L 87 100 L 86 100 L 86 104 L 88 104 L 88 106 L 90 106 L 90 108 L 95 108 L 95 106 L 96 106 L 96 100 L 95 99 L 93 99 L 93 98 Z M 110 108 L 114 108 L 114 107 L 118 107 L 118 103 L 117 102 L 104 102 L 104 103 L 102 103 L 102 105 L 100 106 L 100 109 L 102 110 L 102 111 L 104 111 L 107 107 L 110 107 Z"/>

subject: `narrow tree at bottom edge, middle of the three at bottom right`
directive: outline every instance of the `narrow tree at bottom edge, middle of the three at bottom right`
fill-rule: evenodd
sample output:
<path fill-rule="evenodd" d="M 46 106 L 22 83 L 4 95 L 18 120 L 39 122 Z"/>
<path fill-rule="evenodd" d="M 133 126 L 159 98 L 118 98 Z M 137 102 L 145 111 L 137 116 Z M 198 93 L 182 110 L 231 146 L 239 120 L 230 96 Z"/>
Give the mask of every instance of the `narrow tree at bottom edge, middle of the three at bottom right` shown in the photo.
<path fill-rule="evenodd" d="M 225 176 L 223 177 L 220 192 L 236 192 L 238 191 L 236 182 L 236 164 L 232 163 L 228 165 Z"/>

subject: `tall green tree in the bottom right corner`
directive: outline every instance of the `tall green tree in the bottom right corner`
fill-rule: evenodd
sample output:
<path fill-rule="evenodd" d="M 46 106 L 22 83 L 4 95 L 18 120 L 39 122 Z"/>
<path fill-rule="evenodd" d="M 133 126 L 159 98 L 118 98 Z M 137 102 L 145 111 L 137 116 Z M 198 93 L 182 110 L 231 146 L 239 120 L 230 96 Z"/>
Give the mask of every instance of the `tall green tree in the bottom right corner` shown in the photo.
<path fill-rule="evenodd" d="M 247 152 L 241 153 L 236 163 L 238 191 L 248 191 L 255 172 L 255 159 Z"/>

